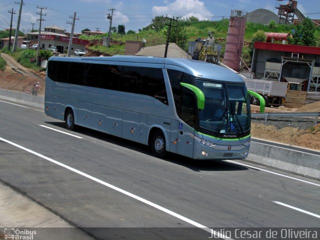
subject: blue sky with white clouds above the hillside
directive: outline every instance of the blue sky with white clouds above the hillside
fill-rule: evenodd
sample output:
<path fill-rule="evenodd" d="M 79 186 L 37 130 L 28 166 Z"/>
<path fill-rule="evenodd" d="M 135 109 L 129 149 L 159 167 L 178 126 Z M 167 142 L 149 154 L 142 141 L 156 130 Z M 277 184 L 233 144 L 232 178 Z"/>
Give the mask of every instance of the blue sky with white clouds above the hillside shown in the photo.
<path fill-rule="evenodd" d="M 0 30 L 9 28 L 11 11 L 13 14 L 12 28 L 16 28 L 19 0 L 0 0 Z M 84 28 L 91 31 L 107 32 L 111 14 L 112 26 L 123 24 L 125 31 L 142 29 L 151 23 L 155 16 L 181 16 L 187 18 L 196 16 L 199 20 L 219 20 L 228 18 L 231 9 L 241 9 L 247 12 L 258 8 L 265 8 L 277 14 L 276 0 L 23 0 L 22 15 L 19 29 L 30 32 L 32 26 L 39 28 L 40 8 L 42 13 L 41 30 L 45 26 L 57 25 L 71 32 L 74 12 L 76 20 L 74 32 L 81 32 Z M 283 1 L 285 2 L 285 1 Z M 297 8 L 311 19 L 320 19 L 319 0 L 298 0 Z M 69 22 L 69 23 L 67 23 Z M 34 23 L 32 25 L 32 23 Z"/>

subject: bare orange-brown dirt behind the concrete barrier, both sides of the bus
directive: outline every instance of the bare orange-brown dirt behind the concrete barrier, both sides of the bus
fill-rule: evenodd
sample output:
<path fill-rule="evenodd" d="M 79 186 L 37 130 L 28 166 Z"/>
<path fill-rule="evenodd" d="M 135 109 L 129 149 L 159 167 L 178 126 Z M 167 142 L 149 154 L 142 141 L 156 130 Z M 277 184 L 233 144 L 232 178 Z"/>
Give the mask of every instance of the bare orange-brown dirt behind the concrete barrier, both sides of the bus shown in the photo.
<path fill-rule="evenodd" d="M 4 54 L 2 53 L 3 57 Z M 6 57 L 3 57 L 6 58 Z M 44 95 L 45 72 L 30 72 L 14 59 L 7 61 L 5 71 L 0 72 L 0 88 L 29 93 L 33 83 L 40 82 L 39 95 Z M 20 69 L 20 70 L 16 70 Z M 19 72 L 19 73 L 18 73 Z M 36 75 L 34 75 L 34 73 Z M 26 93 L 26 94 L 27 94 Z M 259 112 L 259 107 L 251 105 L 252 112 Z M 320 112 L 320 101 L 314 102 L 300 108 L 286 107 L 265 107 L 266 112 Z M 320 121 L 320 120 L 318 120 Z M 262 139 L 282 142 L 290 145 L 303 146 L 320 150 L 320 124 L 308 129 L 299 129 L 298 127 L 277 128 L 273 125 L 264 125 L 260 123 L 251 124 L 251 135 Z"/>

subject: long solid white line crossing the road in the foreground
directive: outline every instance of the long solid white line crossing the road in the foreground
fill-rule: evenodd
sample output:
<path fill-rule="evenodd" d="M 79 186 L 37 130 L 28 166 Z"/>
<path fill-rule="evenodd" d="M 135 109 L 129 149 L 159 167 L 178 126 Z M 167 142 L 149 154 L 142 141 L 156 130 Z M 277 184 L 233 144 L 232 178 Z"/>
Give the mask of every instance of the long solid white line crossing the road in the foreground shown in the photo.
<path fill-rule="evenodd" d="M 142 198 L 142 197 L 139 197 L 139 196 L 137 196 L 137 195 L 134 195 L 133 193 L 130 193 L 130 192 L 126 191 L 126 190 L 123 190 L 123 189 L 121 189 L 121 188 L 119 188 L 119 187 L 117 187 L 117 186 L 111 185 L 110 183 L 107 183 L 107 182 L 105 182 L 105 181 L 102 181 L 102 180 L 100 180 L 100 179 L 98 179 L 98 178 L 96 178 L 96 177 L 94 177 L 94 176 L 91 176 L 91 175 L 89 175 L 89 174 L 86 174 L 86 173 L 84 173 L 84 172 L 82 172 L 82 171 L 79 171 L 79 170 L 73 168 L 73 167 L 70 167 L 70 166 L 68 166 L 68 165 L 65 165 L 65 164 L 63 164 L 63 163 L 61 163 L 61 162 L 59 162 L 59 161 L 53 160 L 52 158 L 49 158 L 49 157 L 47 157 L 47 156 L 44 156 L 44 155 L 42 155 L 42 154 L 40 154 L 40 153 L 38 153 L 38 152 L 32 151 L 32 150 L 30 150 L 30 149 L 28 149 L 28 148 L 26 148 L 26 147 L 24 147 L 24 146 L 18 145 L 18 144 L 16 144 L 16 143 L 14 143 L 14 142 L 12 142 L 12 141 L 9 141 L 9 140 L 6 140 L 6 139 L 4 139 L 4 138 L 2 138 L 2 137 L 0 137 L 0 140 L 4 141 L 4 142 L 6 142 L 6 143 L 9 143 L 9 144 L 11 144 L 11 145 L 13 145 L 13 146 L 16 146 L 16 147 L 18 147 L 18 148 L 20 148 L 20 149 L 22 149 L 22 150 L 27 151 L 27 152 L 30 152 L 30 153 L 32 153 L 32 154 L 34 154 L 34 155 L 36 155 L 36 156 L 39 156 L 39 157 L 41 157 L 41 158 L 43 158 L 43 159 L 45 159 L 45 160 L 47 160 L 47 161 L 50 161 L 50 162 L 55 163 L 55 164 L 57 164 L 57 165 L 59 165 L 59 166 L 62 166 L 62 167 L 66 168 L 66 169 L 68 169 L 68 170 L 70 170 L 70 171 L 73 171 L 73 172 L 75 172 L 75 173 L 78 173 L 79 175 L 82 175 L 82 176 L 84 176 L 84 177 L 87 177 L 87 178 L 89 178 L 89 179 L 91 179 L 91 180 L 93 180 L 93 181 L 95 181 L 95 182 L 98 182 L 98 183 L 100 183 L 100 184 L 102 184 L 102 185 L 105 185 L 105 186 L 107 186 L 107 187 L 109 187 L 109 188 L 111 188 L 111 189 L 113 189 L 113 190 L 116 190 L 116 191 L 118 191 L 118 192 L 121 192 L 121 193 L 123 193 L 123 194 L 125 194 L 125 195 L 127 195 L 127 196 L 130 196 L 130 197 L 132 197 L 132 198 L 134 198 L 134 199 L 136 199 L 136 200 L 138 200 L 138 201 L 141 201 L 141 202 L 143 202 L 143 203 L 145 203 L 145 204 L 147 204 L 147 205 L 153 206 L 153 207 L 155 207 L 156 209 L 159 209 L 159 210 L 161 210 L 161 211 L 163 211 L 163 212 L 165 212 L 165 213 L 168 213 L 168 214 L 170 214 L 170 215 L 172 215 L 172 216 L 174 216 L 174 217 L 176 217 L 176 218 L 179 218 L 180 220 L 183 220 L 183 221 L 185 221 L 185 222 L 187 222 L 187 223 L 189 223 L 189 224 L 191 224 L 191 225 L 194 225 L 194 226 L 196 226 L 196 227 L 199 227 L 199 228 L 201 228 L 201 229 L 209 232 L 210 234 L 214 234 L 215 236 L 220 237 L 220 238 L 223 238 L 223 239 L 230 239 L 230 240 L 232 240 L 232 238 L 227 237 L 227 236 L 225 236 L 224 234 L 221 234 L 221 233 L 218 232 L 218 231 L 214 231 L 213 229 L 211 229 L 211 228 L 209 228 L 209 227 L 207 227 L 207 226 L 204 226 L 204 225 L 202 225 L 202 224 L 200 224 L 200 223 L 198 223 L 198 222 L 196 222 L 196 221 L 193 221 L 193 220 L 191 220 L 191 219 L 189 219 L 189 218 L 187 218 L 187 217 L 184 217 L 184 216 L 182 216 L 182 215 L 180 215 L 180 214 L 178 214 L 178 213 L 175 213 L 174 211 L 171 211 L 171 210 L 169 210 L 169 209 L 166 209 L 166 208 L 164 208 L 164 207 L 162 207 L 162 206 L 160 206 L 160 205 L 158 205 L 158 204 L 156 204 L 156 203 L 153 203 L 153 202 L 151 202 L 151 201 L 149 201 L 149 200 L 146 200 L 146 199 L 144 199 L 144 198 Z"/>

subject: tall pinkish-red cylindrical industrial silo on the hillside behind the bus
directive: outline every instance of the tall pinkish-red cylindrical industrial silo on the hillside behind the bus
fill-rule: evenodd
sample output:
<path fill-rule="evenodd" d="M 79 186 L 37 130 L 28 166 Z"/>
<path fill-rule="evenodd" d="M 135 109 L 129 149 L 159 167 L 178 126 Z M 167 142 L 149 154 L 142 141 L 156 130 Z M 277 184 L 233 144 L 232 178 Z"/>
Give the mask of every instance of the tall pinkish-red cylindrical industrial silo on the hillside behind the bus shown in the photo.
<path fill-rule="evenodd" d="M 235 71 L 240 68 L 245 23 L 246 12 L 231 10 L 223 63 Z"/>

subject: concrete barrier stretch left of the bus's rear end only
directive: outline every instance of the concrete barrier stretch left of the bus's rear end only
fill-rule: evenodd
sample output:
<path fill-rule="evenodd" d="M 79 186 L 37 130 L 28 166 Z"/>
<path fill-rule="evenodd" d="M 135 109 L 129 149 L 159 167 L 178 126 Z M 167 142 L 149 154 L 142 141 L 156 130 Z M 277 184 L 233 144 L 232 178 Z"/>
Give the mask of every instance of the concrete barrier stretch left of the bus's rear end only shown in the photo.
<path fill-rule="evenodd" d="M 44 96 L 34 96 L 24 92 L 0 89 L 0 98 L 3 100 L 44 108 Z"/>

